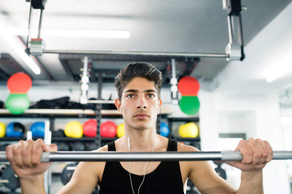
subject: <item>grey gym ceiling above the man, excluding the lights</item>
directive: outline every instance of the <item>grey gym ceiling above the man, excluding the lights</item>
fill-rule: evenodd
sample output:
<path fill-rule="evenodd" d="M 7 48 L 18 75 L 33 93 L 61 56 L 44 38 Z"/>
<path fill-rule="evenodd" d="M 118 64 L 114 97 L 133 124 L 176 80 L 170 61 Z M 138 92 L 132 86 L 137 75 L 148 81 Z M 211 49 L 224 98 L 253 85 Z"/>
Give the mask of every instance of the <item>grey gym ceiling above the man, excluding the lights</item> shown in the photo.
<path fill-rule="evenodd" d="M 241 15 L 244 44 L 247 45 L 290 2 L 291 0 L 241 0 L 241 4 L 247 7 L 247 11 Z M 25 0 L 0 0 L 0 23 L 3 26 L 28 28 L 29 10 L 30 3 Z M 34 10 L 33 28 L 38 26 L 37 15 Z M 221 0 L 47 0 L 42 28 L 130 32 L 129 38 L 41 36 L 46 49 L 55 50 L 224 53 L 229 42 L 226 11 L 222 9 Z M 26 36 L 19 38 L 26 44 Z M 81 60 L 64 60 L 62 55 L 44 54 L 37 57 L 42 70 L 36 75 L 2 38 L 0 52 L 0 69 L 6 69 L 0 73 L 2 85 L 19 70 L 28 73 L 33 81 L 45 82 L 77 82 L 78 78 L 75 77 L 82 73 L 79 72 L 83 66 Z M 92 65 L 97 68 L 107 66 L 120 69 L 135 61 L 102 60 L 102 56 L 95 58 Z M 196 59 L 191 75 L 202 80 L 212 80 L 227 63 L 224 58 Z M 7 66 L 10 66 L 8 70 Z M 165 62 L 156 62 L 156 66 L 165 72 Z M 183 67 L 178 71 L 179 76 L 185 74 Z M 109 81 L 114 77 L 107 76 Z"/>

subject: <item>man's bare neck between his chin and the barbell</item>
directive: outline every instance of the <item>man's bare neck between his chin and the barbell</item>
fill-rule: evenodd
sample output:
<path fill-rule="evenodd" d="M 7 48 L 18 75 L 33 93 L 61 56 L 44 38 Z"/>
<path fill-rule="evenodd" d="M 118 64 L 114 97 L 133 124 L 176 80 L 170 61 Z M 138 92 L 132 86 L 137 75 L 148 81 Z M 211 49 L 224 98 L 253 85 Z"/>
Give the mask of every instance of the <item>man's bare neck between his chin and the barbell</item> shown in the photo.
<path fill-rule="evenodd" d="M 125 124 L 125 135 L 123 138 L 123 145 L 127 147 L 127 150 L 128 137 L 130 142 L 130 152 L 150 152 L 153 149 L 156 137 L 155 126 L 149 129 L 137 130 L 131 129 Z"/>

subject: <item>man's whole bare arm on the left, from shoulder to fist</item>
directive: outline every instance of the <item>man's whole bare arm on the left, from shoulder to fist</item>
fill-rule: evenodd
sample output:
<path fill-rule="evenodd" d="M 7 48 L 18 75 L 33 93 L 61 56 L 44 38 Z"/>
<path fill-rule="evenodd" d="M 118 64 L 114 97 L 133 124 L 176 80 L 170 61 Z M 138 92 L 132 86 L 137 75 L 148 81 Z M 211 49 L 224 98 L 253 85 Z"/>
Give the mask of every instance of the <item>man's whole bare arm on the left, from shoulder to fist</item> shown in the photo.
<path fill-rule="evenodd" d="M 43 173 L 53 162 L 40 162 L 41 154 L 56 152 L 55 144 L 45 145 L 43 140 L 19 141 L 6 147 L 6 156 L 11 167 L 20 179 L 22 194 L 45 194 Z M 108 151 L 104 146 L 98 150 Z M 106 162 L 80 162 L 70 182 L 57 194 L 91 194 L 96 184 L 101 181 Z"/>

